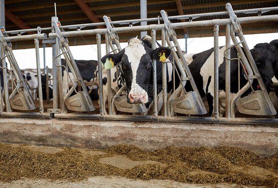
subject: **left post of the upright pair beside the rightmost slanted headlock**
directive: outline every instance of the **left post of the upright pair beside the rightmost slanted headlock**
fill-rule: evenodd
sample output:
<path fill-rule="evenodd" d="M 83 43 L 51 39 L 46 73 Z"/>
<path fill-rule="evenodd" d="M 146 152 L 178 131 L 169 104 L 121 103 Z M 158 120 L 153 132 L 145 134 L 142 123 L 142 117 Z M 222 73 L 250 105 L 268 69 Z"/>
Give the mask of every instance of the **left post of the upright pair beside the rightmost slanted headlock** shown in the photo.
<path fill-rule="evenodd" d="M 219 25 L 213 27 L 214 37 L 214 117 L 219 118 L 219 47 L 218 47 Z"/>

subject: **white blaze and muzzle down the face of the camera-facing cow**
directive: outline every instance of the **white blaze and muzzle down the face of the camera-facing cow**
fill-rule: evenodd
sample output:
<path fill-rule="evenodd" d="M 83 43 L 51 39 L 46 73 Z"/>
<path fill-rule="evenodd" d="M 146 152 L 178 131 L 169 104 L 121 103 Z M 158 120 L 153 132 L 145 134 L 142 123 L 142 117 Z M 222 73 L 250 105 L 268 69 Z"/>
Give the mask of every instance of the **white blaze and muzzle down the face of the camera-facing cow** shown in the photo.
<path fill-rule="evenodd" d="M 148 94 L 136 81 L 140 59 L 145 53 L 146 50 L 144 49 L 141 41 L 137 38 L 131 39 L 129 46 L 125 48 L 125 54 L 128 57 L 129 63 L 131 63 L 132 69 L 132 83 L 129 93 L 129 98 L 132 103 L 136 101 L 139 101 L 139 103 L 146 103 L 148 101 Z"/>

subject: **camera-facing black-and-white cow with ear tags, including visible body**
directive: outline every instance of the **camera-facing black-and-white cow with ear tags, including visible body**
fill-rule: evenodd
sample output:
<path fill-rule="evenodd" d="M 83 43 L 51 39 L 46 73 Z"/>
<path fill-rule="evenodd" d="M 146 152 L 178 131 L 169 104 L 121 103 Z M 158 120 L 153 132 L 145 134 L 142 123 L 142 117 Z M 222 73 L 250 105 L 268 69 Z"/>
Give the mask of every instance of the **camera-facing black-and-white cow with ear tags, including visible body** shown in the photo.
<path fill-rule="evenodd" d="M 165 55 L 169 57 L 171 49 L 168 47 L 151 48 L 149 36 L 143 37 L 139 40 L 137 37 L 130 39 L 128 47 L 122 49 L 117 54 L 107 54 L 101 58 L 101 62 L 106 62 L 111 59 L 114 65 L 118 65 L 123 71 L 123 78 L 125 86 L 128 90 L 127 102 L 132 104 L 145 104 L 148 108 L 153 100 L 153 62 L 156 59 L 156 75 L 158 91 L 162 86 L 162 62 L 160 57 Z M 172 79 L 173 70 L 172 64 L 167 66 L 167 93 L 173 91 L 174 79 Z M 178 75 L 175 74 L 177 77 Z M 179 78 L 175 79 L 179 85 Z M 160 88 L 159 88 L 160 87 Z"/>

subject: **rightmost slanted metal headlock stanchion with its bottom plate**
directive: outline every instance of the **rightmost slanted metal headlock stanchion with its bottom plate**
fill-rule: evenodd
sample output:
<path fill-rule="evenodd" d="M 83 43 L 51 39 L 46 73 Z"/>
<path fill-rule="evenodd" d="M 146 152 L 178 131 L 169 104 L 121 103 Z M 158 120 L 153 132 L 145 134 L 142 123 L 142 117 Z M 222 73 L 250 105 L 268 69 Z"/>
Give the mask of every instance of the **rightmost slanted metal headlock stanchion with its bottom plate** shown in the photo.
<path fill-rule="evenodd" d="M 232 21 L 232 25 L 233 25 L 233 29 L 231 32 L 231 36 L 232 36 L 232 41 L 235 44 L 235 47 L 243 61 L 244 67 L 246 68 L 248 75 L 247 75 L 247 79 L 248 79 L 248 83 L 232 98 L 232 103 L 231 103 L 231 108 L 232 108 L 232 112 L 231 112 L 231 116 L 234 117 L 234 103 L 236 104 L 236 106 L 238 107 L 238 111 L 240 113 L 243 114 L 250 114 L 250 115 L 275 115 L 277 114 L 273 103 L 269 97 L 269 94 L 267 92 L 267 89 L 265 87 L 265 84 L 263 82 L 263 79 L 259 73 L 259 70 L 256 66 L 256 63 L 253 59 L 253 56 L 247 46 L 247 43 L 244 39 L 243 36 L 243 32 L 242 32 L 242 28 L 240 26 L 240 23 L 237 19 L 237 16 L 234 14 L 233 9 L 232 9 L 232 5 L 230 3 L 226 4 L 226 9 L 229 12 L 229 16 L 230 19 Z M 249 65 L 243 50 L 241 49 L 241 47 L 239 46 L 239 43 L 236 39 L 236 36 L 238 36 L 239 40 L 240 40 L 240 44 L 242 44 L 242 47 L 246 53 L 246 56 L 249 60 L 249 63 L 251 65 Z M 253 72 L 255 75 L 253 75 Z M 252 82 L 253 79 L 257 79 L 260 87 L 261 87 L 261 91 L 254 91 L 252 88 Z M 239 98 L 241 94 L 243 94 L 244 92 L 246 92 L 249 88 L 252 88 L 252 91 L 254 92 L 254 94 Z"/>

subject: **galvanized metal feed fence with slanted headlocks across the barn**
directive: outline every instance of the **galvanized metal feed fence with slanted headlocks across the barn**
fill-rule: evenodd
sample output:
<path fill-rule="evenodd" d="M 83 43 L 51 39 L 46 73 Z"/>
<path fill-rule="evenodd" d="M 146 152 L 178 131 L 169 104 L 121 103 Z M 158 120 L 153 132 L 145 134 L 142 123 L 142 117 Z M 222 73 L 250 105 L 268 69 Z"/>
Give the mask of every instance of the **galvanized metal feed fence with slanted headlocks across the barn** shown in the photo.
<path fill-rule="evenodd" d="M 192 14 L 192 15 L 181 15 L 181 16 L 167 16 L 167 13 L 164 10 L 161 10 L 161 17 L 157 18 L 147 18 L 147 19 L 137 19 L 137 20 L 125 20 L 125 21 L 111 21 L 107 16 L 104 16 L 104 23 L 92 23 L 92 24 L 78 24 L 78 25 L 69 25 L 61 26 L 57 17 L 52 17 L 51 28 L 40 28 L 37 29 L 27 29 L 27 30 L 17 30 L 17 31 L 4 31 L 0 32 L 0 43 L 1 43 L 1 60 L 2 60 L 2 71 L 3 77 L 7 78 L 9 70 L 6 68 L 5 60 L 7 59 L 10 63 L 12 71 L 16 78 L 16 83 L 14 83 L 15 88 L 12 93 L 8 93 L 8 83 L 6 79 L 3 79 L 3 97 L 0 94 L 0 113 L 2 117 L 40 117 L 40 118 L 71 118 L 71 119 L 98 119 L 98 120 L 127 120 L 127 121 L 171 121 L 171 122 L 198 122 L 198 123 L 229 123 L 229 124 L 277 124 L 278 119 L 275 118 L 276 111 L 273 105 L 269 102 L 270 99 L 268 96 L 259 93 L 255 97 L 259 101 L 263 100 L 263 105 L 266 106 L 266 112 L 260 114 L 260 112 L 254 113 L 254 115 L 265 115 L 263 118 L 256 116 L 256 118 L 234 118 L 235 117 L 235 101 L 238 100 L 241 94 L 243 94 L 250 85 L 246 85 L 242 88 L 238 94 L 232 99 L 230 103 L 230 60 L 226 60 L 226 118 L 219 117 L 219 108 L 218 108 L 218 83 L 219 83 L 219 62 L 218 62 L 218 37 L 219 37 L 219 27 L 226 27 L 226 56 L 230 58 L 231 47 L 231 38 L 234 44 L 242 44 L 249 63 L 244 59 L 244 54 L 239 45 L 236 46 L 240 56 L 242 58 L 243 64 L 246 67 L 250 77 L 250 83 L 252 80 L 257 79 L 262 90 L 266 90 L 265 85 L 260 77 L 260 73 L 256 69 L 254 60 L 252 60 L 252 55 L 247 47 L 246 41 L 243 36 L 242 29 L 240 24 L 244 23 L 262 23 L 262 22 L 278 22 L 278 15 L 261 15 L 264 11 L 277 10 L 278 7 L 269 7 L 269 8 L 260 8 L 260 9 L 248 9 L 248 10 L 238 10 L 233 11 L 230 3 L 226 5 L 227 11 L 225 12 L 216 12 L 216 13 L 203 13 L 203 14 Z M 253 17 L 241 17 L 237 18 L 236 13 L 242 12 L 258 12 L 258 16 Z M 210 15 L 224 15 L 228 14 L 230 18 L 227 19 L 213 19 L 213 20 L 203 20 L 203 21 L 192 21 L 196 17 L 205 17 Z M 188 19 L 188 22 L 180 23 L 171 23 L 172 19 Z M 137 23 L 142 21 L 157 21 L 157 24 L 145 25 L 145 26 L 128 26 L 121 27 L 120 24 L 129 24 Z M 161 23 L 163 21 L 163 23 Z M 105 25 L 106 29 L 90 29 L 86 30 L 88 26 L 96 25 Z M 119 27 L 114 27 L 114 26 Z M 214 112 L 213 117 L 200 117 L 193 116 L 190 114 L 205 114 L 206 109 L 204 103 L 200 97 L 200 94 L 197 90 L 197 87 L 194 83 L 194 79 L 190 73 L 190 70 L 186 64 L 183 52 L 179 46 L 175 29 L 183 28 L 196 28 L 196 27 L 209 27 L 214 31 Z M 73 31 L 63 31 L 63 29 L 68 29 Z M 36 31 L 38 34 L 33 35 L 20 35 L 23 32 Z M 48 38 L 45 33 L 48 33 Z M 107 70 L 107 83 L 108 83 L 108 114 L 104 114 L 103 107 L 103 83 L 102 83 L 102 64 L 101 64 L 101 38 L 105 38 L 106 44 L 106 53 L 109 53 L 110 47 L 111 52 L 117 53 L 122 48 L 119 43 L 119 33 L 130 33 L 130 32 L 143 32 L 148 31 L 151 33 L 152 39 L 152 48 L 155 48 L 156 34 L 161 32 L 162 46 L 168 46 L 172 50 L 174 59 L 178 65 L 178 69 L 181 71 L 181 86 L 178 87 L 176 91 L 169 98 L 167 98 L 166 93 L 166 65 L 163 64 L 163 112 L 159 114 L 157 110 L 157 88 L 156 88 L 156 72 L 154 71 L 154 100 L 153 100 L 153 113 L 152 115 L 135 115 L 135 114 L 116 114 L 117 109 L 117 97 L 124 91 L 124 87 L 118 91 L 115 96 L 111 94 L 111 72 Z M 232 31 L 232 32 L 231 32 Z M 9 37 L 9 34 L 18 33 L 17 36 Z M 237 33 L 238 38 L 235 36 Z M 83 82 L 82 75 L 80 74 L 78 67 L 75 63 L 74 57 L 68 46 L 68 39 L 70 37 L 76 36 L 95 36 L 97 42 L 97 61 L 98 61 L 98 87 L 99 87 L 99 113 L 88 113 L 89 111 L 94 111 L 93 102 L 90 98 L 90 95 L 86 89 L 86 86 Z M 239 39 L 239 42 L 237 41 Z M 30 93 L 28 92 L 28 87 L 23 81 L 22 75 L 20 74 L 20 68 L 16 62 L 16 59 L 12 53 L 12 47 L 10 42 L 15 41 L 28 41 L 34 40 L 36 48 L 36 59 L 37 59 L 37 73 L 38 73 L 38 94 L 39 94 L 39 112 L 32 112 L 35 109 L 34 101 L 32 100 Z M 41 80 L 41 67 L 40 67 L 40 54 L 39 54 L 39 42 L 42 41 L 43 44 L 52 45 L 52 60 L 53 60 L 53 106 L 52 108 L 47 109 L 47 112 L 44 111 L 44 101 L 42 96 L 42 80 Z M 179 57 L 177 53 L 179 54 Z M 62 69 L 61 69 L 61 56 L 64 56 L 67 62 L 67 66 L 70 68 L 73 73 L 74 79 L 73 87 L 68 91 L 66 95 L 62 91 Z M 250 66 L 251 65 L 251 66 Z M 153 62 L 154 69 L 156 68 L 156 61 Z M 253 74 L 254 73 L 254 74 Z M 183 109 L 181 113 L 185 116 L 175 116 L 175 101 L 178 97 L 178 94 L 183 90 L 185 83 L 190 82 L 193 92 L 179 100 L 189 100 L 193 105 L 191 109 Z M 82 88 L 81 92 L 70 96 L 74 91 L 76 91 L 77 86 Z M 23 87 L 23 91 L 19 92 L 18 89 Z M 246 99 L 247 100 L 247 99 Z M 172 103 L 171 103 L 172 101 Z M 244 102 L 244 101 L 242 101 Z M 4 107 L 5 104 L 5 107 Z M 131 105 L 131 104 L 128 104 Z M 141 105 L 133 104 L 133 112 L 142 112 Z M 27 110 L 28 112 L 14 112 L 13 109 L 17 110 Z M 141 111 L 140 111 L 141 110 Z M 76 113 L 78 112 L 78 113 Z M 177 112 L 177 111 L 176 111 Z M 180 113 L 180 112 L 179 112 Z M 268 118 L 266 118 L 266 116 Z"/>

